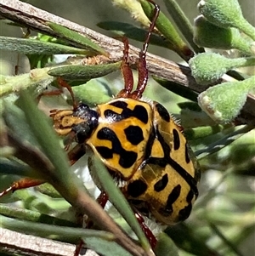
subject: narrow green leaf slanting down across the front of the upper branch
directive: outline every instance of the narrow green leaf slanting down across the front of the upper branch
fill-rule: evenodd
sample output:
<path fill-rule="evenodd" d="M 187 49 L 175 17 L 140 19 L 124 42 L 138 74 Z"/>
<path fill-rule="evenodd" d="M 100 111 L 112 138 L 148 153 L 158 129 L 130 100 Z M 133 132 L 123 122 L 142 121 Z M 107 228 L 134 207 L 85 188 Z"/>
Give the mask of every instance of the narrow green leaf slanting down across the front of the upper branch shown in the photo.
<path fill-rule="evenodd" d="M 88 37 L 82 36 L 77 31 L 71 31 L 71 29 L 53 22 L 48 22 L 48 26 L 54 31 L 58 32 L 61 37 L 64 37 L 71 42 L 78 43 L 82 47 L 94 51 L 95 54 L 102 54 L 105 56 L 108 55 L 103 48 L 99 47 L 97 43 L 92 42 Z"/>

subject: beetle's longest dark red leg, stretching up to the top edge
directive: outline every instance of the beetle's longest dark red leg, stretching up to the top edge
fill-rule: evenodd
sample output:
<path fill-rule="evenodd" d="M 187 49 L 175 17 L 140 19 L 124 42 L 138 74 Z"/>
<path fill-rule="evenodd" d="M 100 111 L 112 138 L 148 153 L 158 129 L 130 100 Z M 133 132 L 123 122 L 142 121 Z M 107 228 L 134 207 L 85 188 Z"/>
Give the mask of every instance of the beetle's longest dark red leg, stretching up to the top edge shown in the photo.
<path fill-rule="evenodd" d="M 159 6 L 154 3 L 151 0 L 147 0 L 148 2 L 152 3 L 155 6 L 154 12 L 153 12 L 153 19 L 150 23 L 150 27 L 145 39 L 145 42 L 143 44 L 143 48 L 139 53 L 139 62 L 138 62 L 138 71 L 139 71 L 139 82 L 137 85 L 137 88 L 135 91 L 133 91 L 131 97 L 133 99 L 139 99 L 142 97 L 144 93 L 144 89 L 146 88 L 147 82 L 148 82 L 148 70 L 146 67 L 146 53 L 148 50 L 149 42 L 150 42 L 150 36 L 152 31 L 154 30 L 154 27 L 156 26 L 156 19 L 160 13 L 160 8 Z"/>

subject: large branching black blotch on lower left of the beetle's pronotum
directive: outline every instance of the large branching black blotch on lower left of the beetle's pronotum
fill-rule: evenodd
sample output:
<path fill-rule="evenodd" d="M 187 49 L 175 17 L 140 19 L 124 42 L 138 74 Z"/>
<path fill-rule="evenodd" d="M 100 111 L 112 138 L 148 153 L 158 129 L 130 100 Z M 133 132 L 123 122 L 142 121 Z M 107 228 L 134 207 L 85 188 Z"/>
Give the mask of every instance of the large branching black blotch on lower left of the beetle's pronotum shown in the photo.
<path fill-rule="evenodd" d="M 119 164 L 122 168 L 130 168 L 136 162 L 137 153 L 123 149 L 120 140 L 110 128 L 101 128 L 97 138 L 110 140 L 112 143 L 111 149 L 105 146 L 96 146 L 96 150 L 103 158 L 111 159 L 114 153 L 118 154 L 120 156 Z"/>

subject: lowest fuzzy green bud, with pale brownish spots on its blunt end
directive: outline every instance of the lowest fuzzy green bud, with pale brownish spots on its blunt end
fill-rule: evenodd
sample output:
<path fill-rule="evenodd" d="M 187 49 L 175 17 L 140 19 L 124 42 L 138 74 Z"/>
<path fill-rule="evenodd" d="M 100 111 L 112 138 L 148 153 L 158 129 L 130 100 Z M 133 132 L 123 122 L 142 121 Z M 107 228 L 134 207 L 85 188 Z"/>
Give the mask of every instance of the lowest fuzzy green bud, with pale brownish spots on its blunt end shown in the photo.
<path fill-rule="evenodd" d="M 224 82 L 202 92 L 198 96 L 198 104 L 215 122 L 227 123 L 240 113 L 252 88 L 255 88 L 255 77 Z"/>

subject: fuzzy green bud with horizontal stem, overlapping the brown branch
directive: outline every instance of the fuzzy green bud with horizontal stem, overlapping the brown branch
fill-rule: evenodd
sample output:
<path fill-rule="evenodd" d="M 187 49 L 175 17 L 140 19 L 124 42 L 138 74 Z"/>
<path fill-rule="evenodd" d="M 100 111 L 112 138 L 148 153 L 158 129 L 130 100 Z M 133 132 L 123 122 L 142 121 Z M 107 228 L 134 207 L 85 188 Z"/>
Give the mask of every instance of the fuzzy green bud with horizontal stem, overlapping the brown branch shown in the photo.
<path fill-rule="evenodd" d="M 220 54 L 197 54 L 189 61 L 192 76 L 199 84 L 218 81 L 227 71 L 241 66 L 255 65 L 255 58 L 229 59 Z"/>

